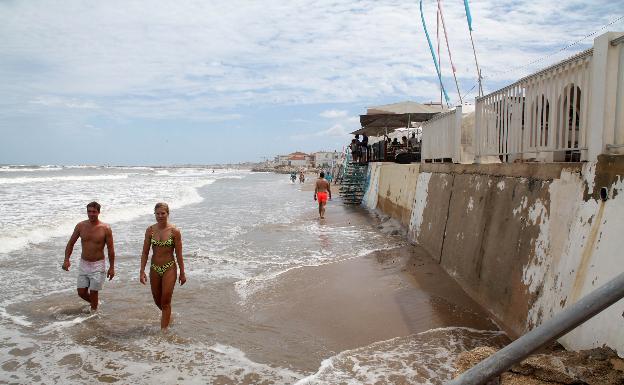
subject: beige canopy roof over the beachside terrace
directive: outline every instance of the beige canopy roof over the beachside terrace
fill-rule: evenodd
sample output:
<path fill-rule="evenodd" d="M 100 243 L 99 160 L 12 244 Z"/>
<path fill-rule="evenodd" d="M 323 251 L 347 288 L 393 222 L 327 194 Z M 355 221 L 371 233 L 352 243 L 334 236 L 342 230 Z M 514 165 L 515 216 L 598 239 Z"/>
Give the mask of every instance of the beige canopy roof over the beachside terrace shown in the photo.
<path fill-rule="evenodd" d="M 381 136 L 397 128 L 411 128 L 414 123 L 427 121 L 442 111 L 443 109 L 439 105 L 410 101 L 369 107 L 366 110 L 366 115 L 360 115 L 362 128 L 353 131 L 351 134 Z"/>

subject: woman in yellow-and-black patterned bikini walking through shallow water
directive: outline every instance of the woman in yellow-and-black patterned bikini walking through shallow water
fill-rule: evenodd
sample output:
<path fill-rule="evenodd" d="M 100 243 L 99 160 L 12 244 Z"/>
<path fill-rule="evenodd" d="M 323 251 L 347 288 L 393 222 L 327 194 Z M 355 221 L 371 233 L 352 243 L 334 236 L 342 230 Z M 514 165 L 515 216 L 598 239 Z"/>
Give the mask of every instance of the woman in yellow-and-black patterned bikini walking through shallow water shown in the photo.
<path fill-rule="evenodd" d="M 184 261 L 182 260 L 182 234 L 178 228 L 169 223 L 169 206 L 166 203 L 157 203 L 154 207 L 154 215 L 156 216 L 156 224 L 145 230 L 139 280 L 144 285 L 147 283 L 145 266 L 147 266 L 147 256 L 151 246 L 150 286 L 154 302 L 162 310 L 160 328 L 166 329 L 171 320 L 171 296 L 178 278 L 178 266 L 180 285 L 184 285 L 186 282 Z M 174 251 L 175 259 L 173 258 Z"/>

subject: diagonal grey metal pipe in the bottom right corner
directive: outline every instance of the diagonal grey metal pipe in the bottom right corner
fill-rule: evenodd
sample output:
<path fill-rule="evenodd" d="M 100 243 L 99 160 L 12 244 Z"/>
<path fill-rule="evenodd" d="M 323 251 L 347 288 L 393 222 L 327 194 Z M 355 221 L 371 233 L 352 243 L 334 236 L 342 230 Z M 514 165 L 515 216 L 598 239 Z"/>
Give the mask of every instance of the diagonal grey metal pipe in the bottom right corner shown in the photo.
<path fill-rule="evenodd" d="M 482 385 L 624 298 L 624 273 L 542 325 L 481 361 L 446 385 Z"/>

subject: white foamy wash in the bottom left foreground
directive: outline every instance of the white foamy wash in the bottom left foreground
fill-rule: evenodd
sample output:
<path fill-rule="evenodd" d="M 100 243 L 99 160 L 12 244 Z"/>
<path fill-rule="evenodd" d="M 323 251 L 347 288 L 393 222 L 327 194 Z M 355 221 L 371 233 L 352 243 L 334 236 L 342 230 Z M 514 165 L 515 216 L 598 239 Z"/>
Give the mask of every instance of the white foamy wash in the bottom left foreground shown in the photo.
<path fill-rule="evenodd" d="M 87 317 L 80 318 L 84 321 Z M 305 376 L 289 368 L 255 362 L 233 346 L 196 343 L 174 333 L 163 335 L 144 327 L 137 328 L 144 335 L 138 342 L 133 339 L 120 342 L 123 350 L 108 345 L 103 348 L 98 344 L 100 339 L 77 345 L 63 329 L 49 330 L 57 334 L 53 342 L 36 340 L 15 330 L 0 332 L 0 337 L 10 338 L 12 342 L 10 347 L 0 346 L 0 354 L 6 357 L 4 362 L 15 365 L 11 371 L 12 382 L 75 383 L 80 378 L 81 383 L 285 385 Z M 93 333 L 97 335 L 97 331 Z M 20 351 L 27 353 L 20 355 Z M 156 366 L 152 364 L 155 361 Z"/>

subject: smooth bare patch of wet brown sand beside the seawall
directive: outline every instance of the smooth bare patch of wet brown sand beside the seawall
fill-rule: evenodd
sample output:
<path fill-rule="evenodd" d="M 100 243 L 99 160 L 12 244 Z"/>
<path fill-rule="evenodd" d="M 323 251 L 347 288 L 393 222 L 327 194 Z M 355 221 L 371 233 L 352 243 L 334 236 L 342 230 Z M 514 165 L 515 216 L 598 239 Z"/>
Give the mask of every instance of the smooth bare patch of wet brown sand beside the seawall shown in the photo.
<path fill-rule="evenodd" d="M 361 208 L 353 210 L 344 215 L 330 206 L 327 219 L 319 221 L 353 224 L 373 218 L 363 215 Z M 304 370 L 315 369 L 310 366 L 309 354 L 316 356 L 312 361 L 318 365 L 332 352 L 429 329 L 498 330 L 488 314 L 422 248 L 406 244 L 401 236 L 396 239 L 401 246 L 394 249 L 282 274 L 248 299 L 253 303 L 254 322 L 279 325 L 284 335 L 303 337 L 297 346 L 282 346 L 292 348 L 293 356 L 295 351 L 301 352 L 303 344 L 317 347 L 307 358 L 291 360 Z"/>

